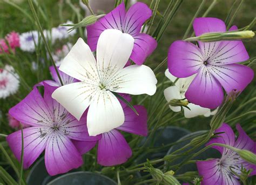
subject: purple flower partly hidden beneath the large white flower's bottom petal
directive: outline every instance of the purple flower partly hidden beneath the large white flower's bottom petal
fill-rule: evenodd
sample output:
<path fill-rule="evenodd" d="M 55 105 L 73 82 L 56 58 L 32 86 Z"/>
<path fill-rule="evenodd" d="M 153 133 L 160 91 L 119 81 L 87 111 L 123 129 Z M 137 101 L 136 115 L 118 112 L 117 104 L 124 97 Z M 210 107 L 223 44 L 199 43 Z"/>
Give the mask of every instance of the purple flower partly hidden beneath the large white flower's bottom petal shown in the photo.
<path fill-rule="evenodd" d="M 147 135 L 146 109 L 140 105 L 134 106 L 139 113 L 139 115 L 136 115 L 124 102 L 121 102 L 121 104 L 125 114 L 123 125 L 109 132 L 100 134 L 100 136 L 102 136 L 101 139 L 96 141 L 94 145 L 92 143 L 90 143 L 90 145 L 84 141 L 73 142 L 81 154 L 88 152 L 98 142 L 97 161 L 102 166 L 120 165 L 126 162 L 132 155 L 129 144 L 118 130 L 137 135 Z"/>

